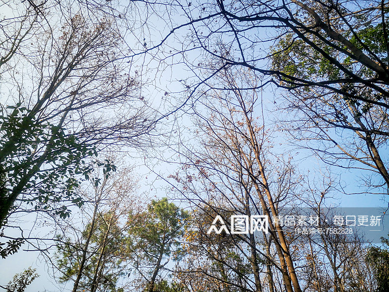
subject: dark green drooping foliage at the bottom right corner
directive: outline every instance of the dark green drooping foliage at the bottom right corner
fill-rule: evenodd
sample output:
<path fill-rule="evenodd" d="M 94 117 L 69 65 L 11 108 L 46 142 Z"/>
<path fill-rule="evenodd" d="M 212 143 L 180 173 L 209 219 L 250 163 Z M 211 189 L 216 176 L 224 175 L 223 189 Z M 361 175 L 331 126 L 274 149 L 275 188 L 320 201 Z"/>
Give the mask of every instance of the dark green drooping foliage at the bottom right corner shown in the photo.
<path fill-rule="evenodd" d="M 372 267 L 377 281 L 377 292 L 389 291 L 389 240 L 381 237 L 386 246 L 379 248 L 372 246 L 366 255 L 366 261 Z"/>

